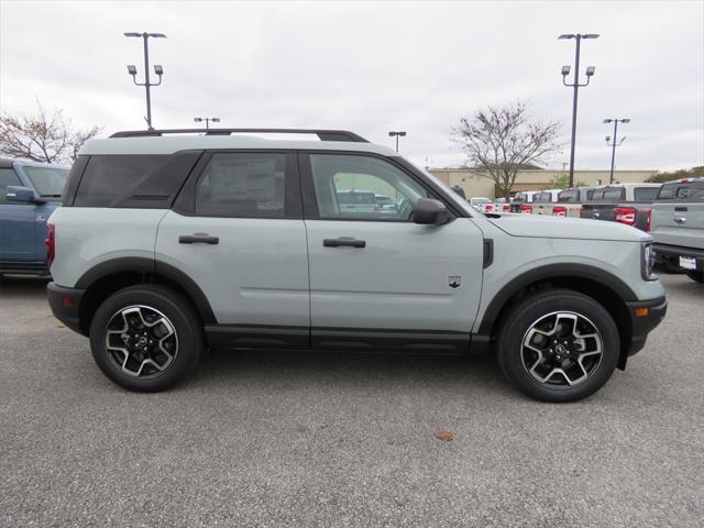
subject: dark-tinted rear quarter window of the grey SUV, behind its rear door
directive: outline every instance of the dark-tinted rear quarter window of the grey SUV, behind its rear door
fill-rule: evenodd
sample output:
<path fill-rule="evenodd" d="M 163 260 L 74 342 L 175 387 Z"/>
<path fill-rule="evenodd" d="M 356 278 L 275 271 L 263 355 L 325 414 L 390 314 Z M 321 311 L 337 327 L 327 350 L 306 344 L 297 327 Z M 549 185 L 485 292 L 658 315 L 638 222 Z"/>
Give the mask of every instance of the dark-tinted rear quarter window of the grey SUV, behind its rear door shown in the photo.
<path fill-rule="evenodd" d="M 76 207 L 108 207 L 167 156 L 91 156 L 76 194 Z"/>

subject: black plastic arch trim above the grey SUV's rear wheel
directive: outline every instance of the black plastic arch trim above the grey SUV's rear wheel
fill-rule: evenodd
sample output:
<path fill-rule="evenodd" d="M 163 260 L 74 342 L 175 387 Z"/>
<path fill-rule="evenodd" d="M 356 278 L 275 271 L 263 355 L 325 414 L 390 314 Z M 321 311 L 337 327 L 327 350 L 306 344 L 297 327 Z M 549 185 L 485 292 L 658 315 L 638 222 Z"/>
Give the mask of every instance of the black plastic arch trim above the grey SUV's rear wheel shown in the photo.
<path fill-rule="evenodd" d="M 200 289 L 194 279 L 177 267 L 154 258 L 125 256 L 101 262 L 84 273 L 76 282 L 75 287 L 77 289 L 86 290 L 101 278 L 122 272 L 144 273 L 146 275 L 145 282 L 148 282 L 150 276 L 163 275 L 180 286 L 188 297 L 190 297 L 190 300 L 196 305 L 196 309 L 200 314 L 204 323 L 215 324 L 218 322 L 206 294 L 204 294 L 202 289 Z"/>

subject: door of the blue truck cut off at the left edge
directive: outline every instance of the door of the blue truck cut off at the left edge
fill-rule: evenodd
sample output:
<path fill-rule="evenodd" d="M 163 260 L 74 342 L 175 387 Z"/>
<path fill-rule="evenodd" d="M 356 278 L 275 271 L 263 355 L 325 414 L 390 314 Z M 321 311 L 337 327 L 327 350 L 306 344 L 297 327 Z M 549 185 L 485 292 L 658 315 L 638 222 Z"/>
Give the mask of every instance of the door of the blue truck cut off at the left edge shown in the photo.
<path fill-rule="evenodd" d="M 22 185 L 14 168 L 0 168 L 0 262 L 34 262 L 34 204 L 7 199 L 10 185 Z"/>

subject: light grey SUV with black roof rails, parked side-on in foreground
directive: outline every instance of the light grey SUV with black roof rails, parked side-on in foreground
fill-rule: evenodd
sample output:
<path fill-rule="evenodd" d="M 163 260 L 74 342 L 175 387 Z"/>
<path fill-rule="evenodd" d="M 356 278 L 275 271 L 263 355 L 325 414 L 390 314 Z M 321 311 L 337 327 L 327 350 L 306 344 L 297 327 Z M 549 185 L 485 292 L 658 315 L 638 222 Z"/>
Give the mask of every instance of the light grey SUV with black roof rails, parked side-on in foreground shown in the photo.
<path fill-rule="evenodd" d="M 195 132 L 87 143 L 50 220 L 52 310 L 129 389 L 175 384 L 206 346 L 493 349 L 520 391 L 568 402 L 624 369 L 664 316 L 635 229 L 485 217 L 351 132 Z M 351 187 L 397 208 L 350 210 Z"/>

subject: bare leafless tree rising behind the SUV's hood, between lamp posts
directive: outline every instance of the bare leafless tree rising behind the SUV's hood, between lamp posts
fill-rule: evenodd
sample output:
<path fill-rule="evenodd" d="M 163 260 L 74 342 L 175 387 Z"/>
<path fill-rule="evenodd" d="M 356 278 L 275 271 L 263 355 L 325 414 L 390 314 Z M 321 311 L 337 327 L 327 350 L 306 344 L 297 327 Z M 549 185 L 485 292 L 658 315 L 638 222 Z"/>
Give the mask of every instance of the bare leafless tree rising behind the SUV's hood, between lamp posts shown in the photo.
<path fill-rule="evenodd" d="M 488 107 L 472 118 L 461 118 L 453 139 L 468 156 L 468 167 L 493 179 L 508 198 L 518 170 L 542 163 L 559 151 L 560 123 L 540 123 L 528 116 L 525 102 Z"/>

